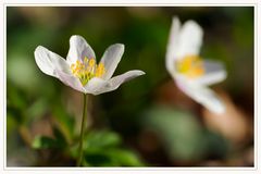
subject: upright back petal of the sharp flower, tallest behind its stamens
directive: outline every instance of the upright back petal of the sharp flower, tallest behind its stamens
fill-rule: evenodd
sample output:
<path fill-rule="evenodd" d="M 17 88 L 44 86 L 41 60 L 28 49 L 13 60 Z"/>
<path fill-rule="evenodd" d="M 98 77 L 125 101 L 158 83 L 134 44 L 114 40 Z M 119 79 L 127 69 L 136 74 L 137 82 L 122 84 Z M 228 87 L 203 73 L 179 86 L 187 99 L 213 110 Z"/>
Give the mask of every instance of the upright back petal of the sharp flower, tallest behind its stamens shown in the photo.
<path fill-rule="evenodd" d="M 71 65 L 77 60 L 83 61 L 85 57 L 88 59 L 96 58 L 94 50 L 82 36 L 72 36 L 70 38 L 70 50 L 66 58 L 67 63 Z"/>

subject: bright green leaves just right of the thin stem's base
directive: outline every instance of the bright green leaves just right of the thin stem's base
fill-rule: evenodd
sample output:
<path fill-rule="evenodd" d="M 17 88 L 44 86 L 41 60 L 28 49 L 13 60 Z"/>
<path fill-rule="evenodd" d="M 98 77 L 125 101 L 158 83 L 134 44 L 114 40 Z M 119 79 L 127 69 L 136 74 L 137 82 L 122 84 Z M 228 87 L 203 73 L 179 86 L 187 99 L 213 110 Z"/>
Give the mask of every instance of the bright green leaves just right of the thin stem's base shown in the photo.
<path fill-rule="evenodd" d="M 85 137 L 85 162 L 87 166 L 141 166 L 136 153 L 122 149 L 117 134 L 102 130 L 90 132 Z"/>

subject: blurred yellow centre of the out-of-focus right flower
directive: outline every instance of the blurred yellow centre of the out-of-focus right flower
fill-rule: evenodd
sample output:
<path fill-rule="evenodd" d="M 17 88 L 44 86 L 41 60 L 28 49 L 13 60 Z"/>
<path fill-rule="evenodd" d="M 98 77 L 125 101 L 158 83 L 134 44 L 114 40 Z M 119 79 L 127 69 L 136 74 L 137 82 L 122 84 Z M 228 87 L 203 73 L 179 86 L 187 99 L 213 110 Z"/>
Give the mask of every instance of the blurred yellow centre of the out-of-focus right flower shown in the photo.
<path fill-rule="evenodd" d="M 198 55 L 186 55 L 176 62 L 179 73 L 189 78 L 196 78 L 204 74 L 203 61 Z"/>

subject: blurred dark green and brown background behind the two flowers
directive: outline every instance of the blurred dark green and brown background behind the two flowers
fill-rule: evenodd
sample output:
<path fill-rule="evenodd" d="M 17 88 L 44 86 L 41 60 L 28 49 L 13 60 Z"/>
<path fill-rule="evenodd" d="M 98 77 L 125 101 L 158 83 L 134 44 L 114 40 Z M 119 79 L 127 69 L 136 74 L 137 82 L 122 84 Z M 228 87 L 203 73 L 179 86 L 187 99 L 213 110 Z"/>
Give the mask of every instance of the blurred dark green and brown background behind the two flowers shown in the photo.
<path fill-rule="evenodd" d="M 65 145 L 73 146 L 79 134 L 83 96 L 41 73 L 34 50 L 41 45 L 65 58 L 75 34 L 86 38 L 98 60 L 110 45 L 125 45 L 115 75 L 146 72 L 113 92 L 89 98 L 87 132 L 96 133 L 86 141 L 98 150 L 89 149 L 86 165 L 253 165 L 253 8 L 7 9 L 8 166 L 74 165 L 74 152 L 67 154 Z M 201 55 L 225 64 L 226 80 L 212 87 L 226 104 L 225 114 L 192 101 L 167 74 L 174 15 L 198 22 L 204 30 Z M 65 140 L 54 149 L 37 149 L 39 135 L 60 134 Z M 113 149 L 104 158 L 109 144 L 128 151 Z"/>

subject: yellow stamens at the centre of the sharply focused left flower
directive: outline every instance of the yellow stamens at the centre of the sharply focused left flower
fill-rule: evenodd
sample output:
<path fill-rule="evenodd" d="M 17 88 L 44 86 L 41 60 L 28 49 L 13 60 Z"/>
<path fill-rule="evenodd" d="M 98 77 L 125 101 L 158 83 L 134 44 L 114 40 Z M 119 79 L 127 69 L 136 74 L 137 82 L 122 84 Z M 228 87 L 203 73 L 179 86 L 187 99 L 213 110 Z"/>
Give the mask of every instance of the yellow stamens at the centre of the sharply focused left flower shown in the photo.
<path fill-rule="evenodd" d="M 103 63 L 96 64 L 94 58 L 85 57 L 84 61 L 77 60 L 71 65 L 72 73 L 79 78 L 83 86 L 85 86 L 92 77 L 101 77 L 105 73 Z"/>

